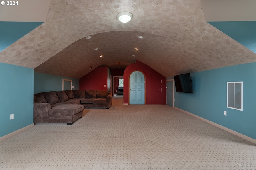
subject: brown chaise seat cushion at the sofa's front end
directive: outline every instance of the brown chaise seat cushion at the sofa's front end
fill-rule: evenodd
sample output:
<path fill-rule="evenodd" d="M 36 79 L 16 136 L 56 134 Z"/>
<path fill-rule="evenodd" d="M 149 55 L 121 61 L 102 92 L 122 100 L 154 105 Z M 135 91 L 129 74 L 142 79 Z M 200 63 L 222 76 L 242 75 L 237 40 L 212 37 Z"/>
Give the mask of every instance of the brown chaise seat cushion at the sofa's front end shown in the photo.
<path fill-rule="evenodd" d="M 66 116 L 72 116 L 80 111 L 84 110 L 83 105 L 79 104 L 63 104 L 63 105 L 54 105 L 52 106 L 52 109 L 49 110 L 49 115 L 66 115 Z"/>

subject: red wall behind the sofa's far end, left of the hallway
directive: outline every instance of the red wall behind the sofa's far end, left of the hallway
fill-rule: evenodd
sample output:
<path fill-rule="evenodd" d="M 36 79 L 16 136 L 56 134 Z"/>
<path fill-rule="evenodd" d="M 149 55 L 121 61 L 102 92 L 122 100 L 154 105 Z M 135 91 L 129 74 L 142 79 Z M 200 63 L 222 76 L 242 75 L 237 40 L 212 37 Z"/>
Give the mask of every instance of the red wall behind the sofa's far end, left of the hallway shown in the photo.
<path fill-rule="evenodd" d="M 104 87 L 106 85 L 106 87 Z M 108 67 L 97 67 L 79 79 L 80 90 L 108 90 Z"/>

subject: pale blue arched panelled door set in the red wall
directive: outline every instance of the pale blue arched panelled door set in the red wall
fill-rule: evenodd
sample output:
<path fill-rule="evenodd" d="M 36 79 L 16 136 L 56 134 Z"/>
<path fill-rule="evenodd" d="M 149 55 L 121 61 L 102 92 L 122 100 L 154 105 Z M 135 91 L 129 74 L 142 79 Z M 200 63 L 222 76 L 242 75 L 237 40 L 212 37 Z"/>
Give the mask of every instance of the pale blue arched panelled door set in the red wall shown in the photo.
<path fill-rule="evenodd" d="M 145 77 L 140 71 L 130 75 L 129 104 L 145 104 Z"/>

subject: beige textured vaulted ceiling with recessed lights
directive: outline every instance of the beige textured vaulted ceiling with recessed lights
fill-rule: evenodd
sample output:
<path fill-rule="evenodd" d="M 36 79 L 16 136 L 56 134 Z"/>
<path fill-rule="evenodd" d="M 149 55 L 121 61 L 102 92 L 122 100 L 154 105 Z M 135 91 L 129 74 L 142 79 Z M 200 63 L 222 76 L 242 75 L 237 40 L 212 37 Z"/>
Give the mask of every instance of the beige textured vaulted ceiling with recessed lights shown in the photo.
<path fill-rule="evenodd" d="M 129 23 L 116 18 L 122 11 L 133 14 Z M 171 77 L 254 62 L 256 54 L 208 24 L 200 0 L 51 0 L 46 22 L 0 53 L 0 62 L 70 78 L 135 60 Z"/>

